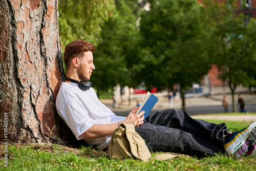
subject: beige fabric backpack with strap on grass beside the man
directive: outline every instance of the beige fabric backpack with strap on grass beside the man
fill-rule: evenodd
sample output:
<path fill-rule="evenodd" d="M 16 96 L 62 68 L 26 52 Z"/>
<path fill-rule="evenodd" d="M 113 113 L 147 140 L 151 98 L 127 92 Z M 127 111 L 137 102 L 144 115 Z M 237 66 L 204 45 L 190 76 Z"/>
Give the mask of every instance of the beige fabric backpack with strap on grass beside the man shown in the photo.
<path fill-rule="evenodd" d="M 139 159 L 149 161 L 151 153 L 145 141 L 135 131 L 134 124 L 121 123 L 111 136 L 109 144 L 109 156 L 114 159 Z M 165 153 L 153 159 L 167 160 L 177 156 L 186 156 L 177 153 Z"/>

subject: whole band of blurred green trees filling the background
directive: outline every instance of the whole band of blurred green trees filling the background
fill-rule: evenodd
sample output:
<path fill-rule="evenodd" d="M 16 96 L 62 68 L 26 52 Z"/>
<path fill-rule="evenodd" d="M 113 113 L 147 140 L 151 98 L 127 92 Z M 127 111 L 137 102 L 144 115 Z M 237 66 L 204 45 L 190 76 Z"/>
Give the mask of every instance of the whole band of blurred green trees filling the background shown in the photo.
<path fill-rule="evenodd" d="M 98 95 L 116 84 L 144 81 L 159 91 L 179 84 L 185 110 L 185 90 L 212 65 L 232 94 L 239 84 L 255 86 L 255 22 L 245 26 L 233 2 L 59 0 L 62 52 L 74 39 L 95 45 L 91 81 Z"/>

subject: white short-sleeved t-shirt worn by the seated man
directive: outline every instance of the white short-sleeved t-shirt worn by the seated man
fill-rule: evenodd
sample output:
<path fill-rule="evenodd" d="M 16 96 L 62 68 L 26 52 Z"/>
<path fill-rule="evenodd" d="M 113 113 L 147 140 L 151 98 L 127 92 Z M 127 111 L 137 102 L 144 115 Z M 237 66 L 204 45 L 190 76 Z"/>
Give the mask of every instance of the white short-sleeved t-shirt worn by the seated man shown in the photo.
<path fill-rule="evenodd" d="M 61 83 L 56 108 L 59 116 L 70 127 L 77 140 L 83 139 L 89 145 L 96 145 L 98 149 L 104 149 L 109 145 L 111 135 L 86 140 L 81 134 L 89 130 L 93 124 L 111 124 L 125 119 L 125 117 L 116 116 L 101 103 L 93 88 L 83 91 L 76 83 Z"/>

